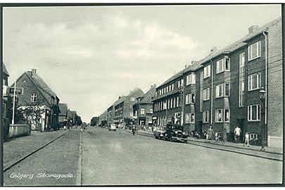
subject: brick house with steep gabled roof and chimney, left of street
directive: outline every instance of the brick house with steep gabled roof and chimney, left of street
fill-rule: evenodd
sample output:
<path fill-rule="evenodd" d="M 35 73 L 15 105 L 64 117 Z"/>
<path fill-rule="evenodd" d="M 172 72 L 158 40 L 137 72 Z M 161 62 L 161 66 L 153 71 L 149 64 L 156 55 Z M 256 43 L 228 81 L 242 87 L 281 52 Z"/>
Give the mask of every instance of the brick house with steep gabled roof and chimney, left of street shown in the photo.
<path fill-rule="evenodd" d="M 37 108 L 40 110 L 41 117 L 38 122 L 31 123 L 32 130 L 44 132 L 58 127 L 58 108 L 59 98 L 51 88 L 37 75 L 37 70 L 26 71 L 13 83 L 11 88 L 16 85 L 23 89 L 23 94 L 17 94 L 18 106 L 20 108 Z"/>

